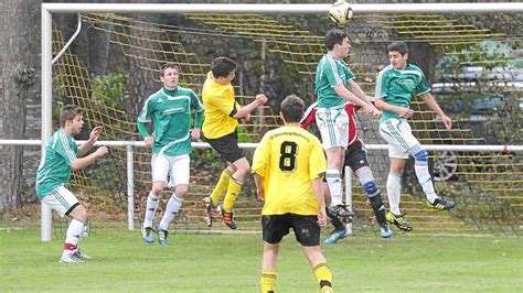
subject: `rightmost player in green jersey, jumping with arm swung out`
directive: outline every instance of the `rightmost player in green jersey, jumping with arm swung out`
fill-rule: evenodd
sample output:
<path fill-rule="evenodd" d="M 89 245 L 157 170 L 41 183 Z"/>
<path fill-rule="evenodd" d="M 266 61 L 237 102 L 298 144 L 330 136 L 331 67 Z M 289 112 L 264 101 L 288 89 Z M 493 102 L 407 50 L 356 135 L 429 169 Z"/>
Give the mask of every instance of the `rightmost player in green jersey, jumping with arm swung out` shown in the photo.
<path fill-rule="evenodd" d="M 413 135 L 407 120 L 414 115 L 414 110 L 409 108 L 413 96 L 420 96 L 427 106 L 440 117 L 447 130 L 452 127 L 452 121 L 430 95 L 430 87 L 421 69 L 408 64 L 407 58 L 407 44 L 395 42 L 388 45 L 391 64 L 383 68 L 377 76 L 375 105 L 382 110 L 380 134 L 388 142 L 391 161 L 386 183 L 391 206 L 387 220 L 402 230 L 410 231 L 413 227 L 399 211 L 401 178 L 408 155 L 415 159 L 416 176 L 428 204 L 436 209 L 449 210 L 455 206 L 455 203 L 440 198 L 434 189 L 433 180 L 428 172 L 427 150 Z"/>

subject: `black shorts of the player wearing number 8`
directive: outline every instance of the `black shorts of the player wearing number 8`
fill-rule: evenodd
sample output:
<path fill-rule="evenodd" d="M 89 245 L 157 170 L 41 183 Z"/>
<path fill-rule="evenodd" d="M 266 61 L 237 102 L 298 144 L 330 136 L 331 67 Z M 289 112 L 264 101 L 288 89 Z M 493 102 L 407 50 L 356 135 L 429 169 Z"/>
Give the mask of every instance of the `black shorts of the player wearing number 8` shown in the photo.
<path fill-rule="evenodd" d="M 262 217 L 264 241 L 276 245 L 288 235 L 290 228 L 295 230 L 296 240 L 305 247 L 320 245 L 320 225 L 318 216 L 296 214 L 269 215 Z"/>

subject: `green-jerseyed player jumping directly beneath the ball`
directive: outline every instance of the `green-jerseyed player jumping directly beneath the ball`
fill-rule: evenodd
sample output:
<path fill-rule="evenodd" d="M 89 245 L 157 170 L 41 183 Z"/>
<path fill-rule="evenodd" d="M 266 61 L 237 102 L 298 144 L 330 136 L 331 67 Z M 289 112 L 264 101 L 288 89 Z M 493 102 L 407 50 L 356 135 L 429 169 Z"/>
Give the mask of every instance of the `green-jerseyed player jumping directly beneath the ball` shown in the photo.
<path fill-rule="evenodd" d="M 325 178 L 332 198 L 329 214 L 348 221 L 353 214 L 342 203 L 340 176 L 349 141 L 349 117 L 344 106 L 350 101 L 367 115 L 380 117 L 381 113 L 354 82 L 354 75 L 343 61 L 351 50 L 346 33 L 338 29 L 330 30 L 325 34 L 324 44 L 328 52 L 316 70 L 316 121 L 327 153 Z"/>

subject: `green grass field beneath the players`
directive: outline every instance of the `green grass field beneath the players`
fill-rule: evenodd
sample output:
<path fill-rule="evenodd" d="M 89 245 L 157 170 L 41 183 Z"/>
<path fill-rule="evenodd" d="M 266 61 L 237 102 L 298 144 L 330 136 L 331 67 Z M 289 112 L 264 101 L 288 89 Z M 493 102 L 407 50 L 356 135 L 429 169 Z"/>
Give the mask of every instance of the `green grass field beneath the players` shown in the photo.
<path fill-rule="evenodd" d="M 0 292 L 259 292 L 259 235 L 177 234 L 161 247 L 137 231 L 97 229 L 82 248 L 94 259 L 62 264 L 61 239 L 0 229 Z M 337 292 L 523 292 L 517 238 L 353 236 L 322 248 Z M 292 235 L 282 243 L 276 289 L 318 292 Z"/>

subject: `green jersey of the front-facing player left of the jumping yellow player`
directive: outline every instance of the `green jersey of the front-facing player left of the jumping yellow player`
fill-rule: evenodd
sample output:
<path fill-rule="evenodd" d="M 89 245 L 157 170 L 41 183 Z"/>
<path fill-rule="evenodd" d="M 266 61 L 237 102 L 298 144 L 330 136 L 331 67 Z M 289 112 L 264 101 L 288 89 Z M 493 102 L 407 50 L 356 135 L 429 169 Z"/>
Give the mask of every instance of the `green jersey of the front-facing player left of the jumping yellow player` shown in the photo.
<path fill-rule="evenodd" d="M 174 90 L 162 88 L 146 100 L 137 126 L 146 138 L 149 132 L 145 123 L 153 123 L 153 154 L 174 156 L 191 153 L 191 110 L 195 111 L 194 128 L 201 129 L 203 106 L 194 91 L 180 86 Z"/>

